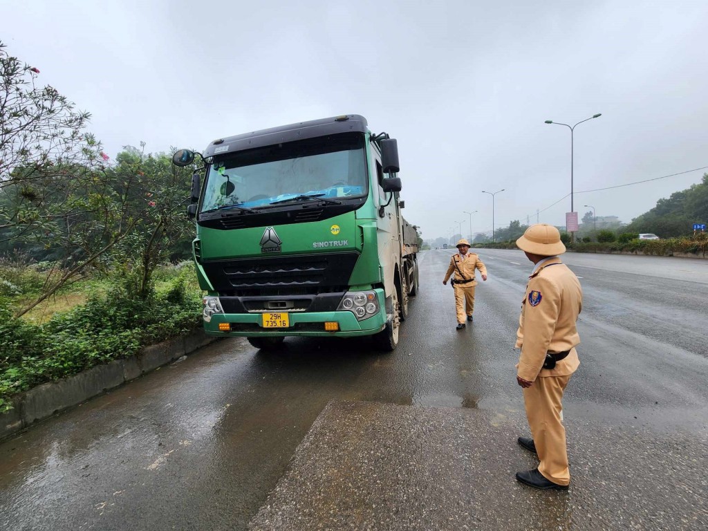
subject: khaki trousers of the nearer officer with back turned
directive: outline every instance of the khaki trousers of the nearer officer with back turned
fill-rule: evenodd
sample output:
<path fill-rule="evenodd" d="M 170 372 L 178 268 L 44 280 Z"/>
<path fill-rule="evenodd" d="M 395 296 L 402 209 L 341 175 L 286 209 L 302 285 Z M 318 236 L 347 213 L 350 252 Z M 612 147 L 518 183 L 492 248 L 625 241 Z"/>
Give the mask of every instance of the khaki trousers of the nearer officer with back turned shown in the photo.
<path fill-rule="evenodd" d="M 526 418 L 541 462 L 538 471 L 559 485 L 568 485 L 571 481 L 566 428 L 561 414 L 563 392 L 569 379 L 571 375 L 537 377 L 531 387 L 523 390 Z"/>

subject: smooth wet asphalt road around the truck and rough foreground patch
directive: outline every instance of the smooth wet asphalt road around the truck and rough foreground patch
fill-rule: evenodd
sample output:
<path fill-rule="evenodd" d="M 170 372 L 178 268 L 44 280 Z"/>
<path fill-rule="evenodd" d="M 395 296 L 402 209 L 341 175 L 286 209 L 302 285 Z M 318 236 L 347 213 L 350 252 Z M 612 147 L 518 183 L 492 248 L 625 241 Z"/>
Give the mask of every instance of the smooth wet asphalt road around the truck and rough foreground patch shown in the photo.
<path fill-rule="evenodd" d="M 319 423 L 308 435 L 333 400 L 416 406 L 396 411 L 421 426 L 447 411 L 467 423 L 471 438 L 477 416 L 510 417 L 503 440 L 484 440 L 508 446 L 525 429 L 512 346 L 532 265 L 520 251 L 481 253 L 489 281 L 477 288 L 474 324 L 457 332 L 452 289 L 441 283 L 449 256 L 421 253 L 421 292 L 392 354 L 372 352 L 365 340 L 289 338 L 278 353 L 257 353 L 228 339 L 1 442 L 0 529 L 245 529 L 303 438 L 330 433 Z M 634 467 L 651 483 L 646 469 L 658 467 L 661 485 L 621 491 L 607 482 L 605 498 L 571 489 L 578 511 L 591 508 L 595 520 L 588 514 L 582 521 L 590 524 L 576 518 L 559 528 L 704 528 L 708 261 L 564 260 L 584 291 L 581 367 L 564 399 L 569 449 L 583 452 L 578 476 L 597 474 L 595 488 L 603 489 L 603 474 L 619 469 L 631 478 Z M 338 411 L 332 407 L 324 418 Z M 572 440 L 573 430 L 581 440 Z M 629 458 L 641 452 L 644 460 Z M 490 489 L 518 488 L 506 469 L 494 478 Z M 647 515 L 622 525 L 632 522 L 622 508 L 636 507 Z M 492 509 L 508 512 L 503 527 L 542 528 Z M 479 528 L 495 528 L 492 521 Z"/>

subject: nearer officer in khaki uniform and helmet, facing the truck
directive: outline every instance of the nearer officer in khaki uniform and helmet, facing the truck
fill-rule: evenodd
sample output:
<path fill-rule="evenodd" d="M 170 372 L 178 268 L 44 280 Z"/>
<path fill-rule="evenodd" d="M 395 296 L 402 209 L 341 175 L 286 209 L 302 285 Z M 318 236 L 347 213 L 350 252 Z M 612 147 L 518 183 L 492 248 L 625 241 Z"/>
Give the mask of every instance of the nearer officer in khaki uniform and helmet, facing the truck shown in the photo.
<path fill-rule="evenodd" d="M 556 227 L 532 225 L 516 245 L 534 263 L 521 304 L 516 348 L 521 349 L 516 381 L 523 387 L 526 417 L 533 438 L 520 437 L 538 455 L 537 469 L 516 479 L 536 489 L 568 489 L 570 471 L 561 400 L 580 361 L 576 321 L 583 292 L 576 275 L 558 257 L 566 251 Z"/>

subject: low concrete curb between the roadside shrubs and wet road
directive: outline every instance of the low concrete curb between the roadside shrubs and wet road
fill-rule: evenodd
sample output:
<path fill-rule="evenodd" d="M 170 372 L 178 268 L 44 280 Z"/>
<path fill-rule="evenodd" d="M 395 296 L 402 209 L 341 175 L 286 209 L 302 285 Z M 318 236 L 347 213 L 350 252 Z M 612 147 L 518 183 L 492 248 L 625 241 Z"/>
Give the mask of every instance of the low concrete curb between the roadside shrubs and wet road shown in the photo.
<path fill-rule="evenodd" d="M 198 329 L 144 347 L 137 355 L 125 360 L 97 365 L 78 375 L 41 384 L 20 393 L 13 398 L 14 409 L 0 414 L 0 440 L 54 413 L 81 404 L 92 396 L 130 382 L 217 339 L 220 338 L 207 336 L 202 329 Z"/>

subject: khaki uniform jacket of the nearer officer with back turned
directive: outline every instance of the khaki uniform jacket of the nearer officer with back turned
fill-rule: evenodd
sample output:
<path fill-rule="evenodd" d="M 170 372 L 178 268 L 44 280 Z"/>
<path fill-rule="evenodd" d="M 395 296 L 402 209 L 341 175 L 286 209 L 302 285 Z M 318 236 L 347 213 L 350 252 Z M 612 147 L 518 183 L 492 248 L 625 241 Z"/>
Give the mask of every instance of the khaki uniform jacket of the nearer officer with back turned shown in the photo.
<path fill-rule="evenodd" d="M 558 257 L 542 263 L 530 276 L 521 304 L 515 348 L 521 349 L 517 376 L 534 382 L 541 376 L 567 376 L 580 365 L 576 321 L 583 306 L 580 281 Z M 571 350 L 554 369 L 544 369 L 546 354 Z"/>

